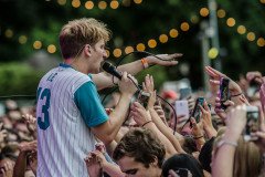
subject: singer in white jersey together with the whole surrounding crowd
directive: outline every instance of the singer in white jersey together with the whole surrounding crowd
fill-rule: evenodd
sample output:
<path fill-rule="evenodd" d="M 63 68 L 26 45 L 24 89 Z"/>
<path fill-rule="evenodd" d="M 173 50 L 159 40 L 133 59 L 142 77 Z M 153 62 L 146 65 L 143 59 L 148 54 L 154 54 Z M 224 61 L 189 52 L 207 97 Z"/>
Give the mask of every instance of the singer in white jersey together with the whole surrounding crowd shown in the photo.
<path fill-rule="evenodd" d="M 161 98 L 151 75 L 141 88 L 132 75 L 152 64 L 176 65 L 182 54 L 149 55 L 120 65 L 119 80 L 99 72 L 109 37 L 106 24 L 95 19 L 62 28 L 64 63 L 40 81 L 36 105 L 20 108 L 6 102 L 0 176 L 265 176 L 261 72 L 233 81 L 205 66 L 210 92 L 160 91 Z M 229 81 L 226 90 L 223 80 Z M 104 107 L 97 91 L 115 85 L 119 92 Z M 187 103 L 188 115 L 176 108 L 178 101 Z"/>

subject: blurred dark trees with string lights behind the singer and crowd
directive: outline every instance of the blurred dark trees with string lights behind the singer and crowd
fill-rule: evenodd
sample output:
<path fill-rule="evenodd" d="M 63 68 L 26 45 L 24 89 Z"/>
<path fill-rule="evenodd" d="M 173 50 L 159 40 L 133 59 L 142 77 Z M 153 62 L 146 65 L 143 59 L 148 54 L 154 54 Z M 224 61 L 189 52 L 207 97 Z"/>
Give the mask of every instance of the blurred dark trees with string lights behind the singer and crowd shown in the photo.
<path fill-rule="evenodd" d="M 216 9 L 223 72 L 233 79 L 251 70 L 263 72 L 265 1 L 218 0 Z M 193 88 L 203 86 L 200 27 L 209 21 L 206 0 L 0 0 L 0 95 L 35 94 L 41 75 L 62 61 L 57 42 L 62 25 L 84 17 L 102 20 L 113 31 L 108 43 L 113 62 L 131 49 L 181 52 L 178 66 L 148 71 L 156 84 L 189 77 Z"/>

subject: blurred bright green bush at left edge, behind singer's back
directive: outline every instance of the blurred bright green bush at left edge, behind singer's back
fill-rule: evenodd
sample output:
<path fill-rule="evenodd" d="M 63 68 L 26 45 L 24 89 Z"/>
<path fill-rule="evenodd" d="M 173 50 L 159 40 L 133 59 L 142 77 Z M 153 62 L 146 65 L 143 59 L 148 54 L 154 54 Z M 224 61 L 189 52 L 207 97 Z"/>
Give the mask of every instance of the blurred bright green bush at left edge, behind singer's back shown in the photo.
<path fill-rule="evenodd" d="M 0 64 L 0 95 L 35 94 L 42 74 L 26 64 Z"/>

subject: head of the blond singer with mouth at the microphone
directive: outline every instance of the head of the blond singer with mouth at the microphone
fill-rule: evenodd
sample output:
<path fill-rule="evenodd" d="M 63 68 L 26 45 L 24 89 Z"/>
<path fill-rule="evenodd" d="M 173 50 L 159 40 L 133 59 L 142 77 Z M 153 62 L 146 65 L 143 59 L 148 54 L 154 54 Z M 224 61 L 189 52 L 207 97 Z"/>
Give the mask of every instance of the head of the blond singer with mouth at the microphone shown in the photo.
<path fill-rule="evenodd" d="M 77 59 L 83 53 L 91 59 L 92 73 L 99 71 L 100 62 L 107 58 L 105 43 L 110 31 L 106 24 L 95 19 L 78 19 L 65 24 L 60 33 L 60 48 L 64 60 Z"/>

